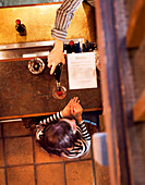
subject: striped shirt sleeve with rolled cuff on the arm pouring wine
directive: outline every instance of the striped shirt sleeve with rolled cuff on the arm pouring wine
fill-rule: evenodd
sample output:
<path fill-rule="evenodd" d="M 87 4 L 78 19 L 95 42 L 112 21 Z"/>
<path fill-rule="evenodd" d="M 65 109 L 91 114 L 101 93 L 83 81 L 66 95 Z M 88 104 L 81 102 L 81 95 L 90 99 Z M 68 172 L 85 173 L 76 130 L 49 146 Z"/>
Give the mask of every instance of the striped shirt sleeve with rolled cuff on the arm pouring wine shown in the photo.
<path fill-rule="evenodd" d="M 77 10 L 83 0 L 63 0 L 61 7 L 57 10 L 55 27 L 51 29 L 51 36 L 59 40 L 64 40 L 68 28 L 73 18 L 74 12 Z M 95 5 L 95 0 L 87 0 L 90 5 Z"/>

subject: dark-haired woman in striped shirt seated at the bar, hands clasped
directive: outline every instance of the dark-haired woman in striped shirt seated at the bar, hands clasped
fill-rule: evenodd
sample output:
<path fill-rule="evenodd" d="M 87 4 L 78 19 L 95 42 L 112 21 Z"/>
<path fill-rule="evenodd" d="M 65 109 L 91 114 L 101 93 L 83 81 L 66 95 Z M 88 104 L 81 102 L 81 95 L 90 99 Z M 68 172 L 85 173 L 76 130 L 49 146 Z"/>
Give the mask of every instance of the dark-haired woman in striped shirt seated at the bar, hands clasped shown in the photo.
<path fill-rule="evenodd" d="M 56 114 L 36 118 L 36 140 L 48 152 L 60 157 L 86 156 L 90 148 L 90 136 L 82 120 L 83 108 L 74 97 Z M 25 124 L 26 125 L 26 124 Z"/>

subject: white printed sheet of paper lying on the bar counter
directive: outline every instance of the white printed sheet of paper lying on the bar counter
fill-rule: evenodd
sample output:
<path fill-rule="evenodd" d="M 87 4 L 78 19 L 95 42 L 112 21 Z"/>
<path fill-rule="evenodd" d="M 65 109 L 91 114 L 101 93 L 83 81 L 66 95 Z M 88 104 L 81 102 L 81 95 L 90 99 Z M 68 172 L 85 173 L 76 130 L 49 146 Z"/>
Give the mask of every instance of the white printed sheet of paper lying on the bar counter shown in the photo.
<path fill-rule="evenodd" d="M 68 54 L 69 88 L 96 88 L 95 52 Z"/>

